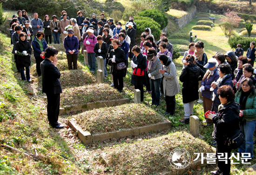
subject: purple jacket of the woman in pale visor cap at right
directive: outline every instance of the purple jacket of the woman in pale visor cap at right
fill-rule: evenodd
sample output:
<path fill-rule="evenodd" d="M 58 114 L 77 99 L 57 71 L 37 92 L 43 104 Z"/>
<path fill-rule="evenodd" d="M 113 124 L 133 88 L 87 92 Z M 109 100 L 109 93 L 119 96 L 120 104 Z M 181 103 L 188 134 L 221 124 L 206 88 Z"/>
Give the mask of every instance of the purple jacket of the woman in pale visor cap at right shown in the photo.
<path fill-rule="evenodd" d="M 207 76 L 208 77 L 208 76 Z M 203 97 L 206 97 L 208 99 L 212 99 L 212 91 L 210 91 L 210 88 L 211 88 L 211 83 L 213 81 L 217 81 L 218 78 L 219 78 L 219 71 L 218 71 L 218 68 L 214 69 L 214 72 L 213 72 L 213 75 L 211 75 L 209 77 L 209 80 L 208 78 L 205 78 L 204 81 L 201 82 L 201 86 L 204 86 L 204 91 L 202 91 L 202 96 Z"/>

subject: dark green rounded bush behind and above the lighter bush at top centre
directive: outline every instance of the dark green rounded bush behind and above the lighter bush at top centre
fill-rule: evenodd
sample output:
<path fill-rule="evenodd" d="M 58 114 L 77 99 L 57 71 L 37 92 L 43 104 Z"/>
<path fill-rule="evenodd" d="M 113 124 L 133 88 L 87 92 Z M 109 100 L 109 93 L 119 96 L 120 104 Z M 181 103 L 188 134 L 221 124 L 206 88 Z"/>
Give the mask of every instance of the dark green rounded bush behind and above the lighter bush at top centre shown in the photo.
<path fill-rule="evenodd" d="M 138 16 L 144 16 L 144 17 L 149 17 L 154 19 L 158 24 L 161 25 L 160 27 L 161 30 L 168 25 L 168 18 L 160 10 L 156 10 L 156 9 L 144 10 L 139 12 Z"/>

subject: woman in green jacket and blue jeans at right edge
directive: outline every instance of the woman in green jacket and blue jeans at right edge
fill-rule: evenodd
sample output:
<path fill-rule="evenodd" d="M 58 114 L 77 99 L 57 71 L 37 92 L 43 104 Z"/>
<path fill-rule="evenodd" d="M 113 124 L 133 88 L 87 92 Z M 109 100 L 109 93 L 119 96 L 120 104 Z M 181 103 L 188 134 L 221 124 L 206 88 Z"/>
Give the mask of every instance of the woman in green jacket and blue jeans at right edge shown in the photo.
<path fill-rule="evenodd" d="M 240 104 L 240 127 L 245 136 L 245 143 L 238 152 L 250 153 L 253 158 L 253 133 L 256 125 L 256 91 L 253 81 L 245 78 L 242 87 L 236 93 L 235 101 Z"/>

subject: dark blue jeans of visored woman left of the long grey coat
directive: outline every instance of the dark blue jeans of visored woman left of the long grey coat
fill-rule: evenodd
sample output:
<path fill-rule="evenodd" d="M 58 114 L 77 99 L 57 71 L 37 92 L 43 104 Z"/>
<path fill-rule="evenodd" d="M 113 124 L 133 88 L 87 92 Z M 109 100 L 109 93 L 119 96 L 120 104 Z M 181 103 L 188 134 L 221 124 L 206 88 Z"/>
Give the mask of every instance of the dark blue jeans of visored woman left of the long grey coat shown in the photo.
<path fill-rule="evenodd" d="M 160 84 L 162 79 L 153 80 L 150 78 L 150 89 L 152 97 L 152 105 L 160 105 Z"/>

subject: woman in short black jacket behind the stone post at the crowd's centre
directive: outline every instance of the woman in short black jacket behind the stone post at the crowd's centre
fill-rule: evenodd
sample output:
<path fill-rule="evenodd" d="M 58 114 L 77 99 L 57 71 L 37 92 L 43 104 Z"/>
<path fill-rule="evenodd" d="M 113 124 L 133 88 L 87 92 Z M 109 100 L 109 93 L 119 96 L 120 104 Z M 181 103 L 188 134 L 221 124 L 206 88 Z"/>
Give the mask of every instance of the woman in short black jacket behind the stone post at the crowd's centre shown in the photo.
<path fill-rule="evenodd" d="M 95 57 L 102 56 L 104 60 L 104 65 L 106 65 L 107 53 L 108 53 L 108 45 L 104 41 L 102 41 L 101 35 L 97 36 L 97 43 L 94 45 Z M 104 75 L 107 76 L 107 69 L 104 66 Z M 103 70 L 102 70 L 103 71 Z"/>

